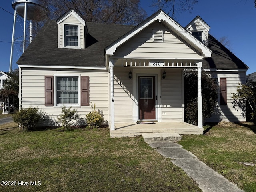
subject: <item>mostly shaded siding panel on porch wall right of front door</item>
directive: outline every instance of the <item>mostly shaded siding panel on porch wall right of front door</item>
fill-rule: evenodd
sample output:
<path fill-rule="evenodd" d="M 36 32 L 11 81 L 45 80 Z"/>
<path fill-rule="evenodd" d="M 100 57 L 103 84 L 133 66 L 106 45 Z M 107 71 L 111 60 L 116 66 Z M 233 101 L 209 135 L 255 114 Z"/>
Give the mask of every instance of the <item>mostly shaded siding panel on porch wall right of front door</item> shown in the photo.
<path fill-rule="evenodd" d="M 162 80 L 162 122 L 183 121 L 182 75 L 183 69 L 165 69 Z"/>

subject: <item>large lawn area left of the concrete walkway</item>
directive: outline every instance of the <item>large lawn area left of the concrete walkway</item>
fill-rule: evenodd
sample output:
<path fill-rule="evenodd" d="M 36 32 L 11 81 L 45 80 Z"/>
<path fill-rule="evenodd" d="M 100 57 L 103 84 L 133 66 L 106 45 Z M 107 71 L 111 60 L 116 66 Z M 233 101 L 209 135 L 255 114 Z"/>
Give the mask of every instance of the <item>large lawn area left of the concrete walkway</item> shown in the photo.
<path fill-rule="evenodd" d="M 20 132 L 0 126 L 0 180 L 40 186 L 0 191 L 199 192 L 197 184 L 142 137 L 110 138 L 108 128 Z"/>

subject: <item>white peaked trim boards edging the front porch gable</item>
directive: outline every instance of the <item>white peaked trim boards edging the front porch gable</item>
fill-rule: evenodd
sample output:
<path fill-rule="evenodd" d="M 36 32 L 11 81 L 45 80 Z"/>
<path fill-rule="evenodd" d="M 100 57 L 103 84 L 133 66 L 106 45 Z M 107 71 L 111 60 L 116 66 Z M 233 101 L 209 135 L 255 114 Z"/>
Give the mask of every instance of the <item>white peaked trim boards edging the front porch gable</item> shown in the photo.
<path fill-rule="evenodd" d="M 167 22 L 168 25 L 170 25 L 174 30 L 176 30 L 178 33 L 182 34 L 182 36 L 184 36 L 186 38 L 184 40 L 188 40 L 188 41 L 192 42 L 192 44 L 194 44 L 195 46 L 200 48 L 202 50 L 202 53 L 203 53 L 204 57 L 211 57 L 212 56 L 212 51 L 207 46 L 205 46 L 199 40 L 194 38 L 194 36 L 192 36 L 192 34 L 190 34 L 187 30 L 185 30 L 177 22 L 172 20 L 172 18 L 170 18 L 162 10 L 156 16 L 152 15 L 151 17 L 148 18 L 148 20 L 145 20 L 145 22 L 143 22 L 142 24 L 135 27 L 135 29 L 132 32 L 130 32 L 130 34 L 128 34 L 127 36 L 125 36 L 123 38 L 120 38 L 120 40 L 117 40 L 116 43 L 107 47 L 106 48 L 106 55 L 113 55 L 114 52 L 116 51 L 116 49 L 118 48 L 118 46 L 120 46 L 124 42 L 128 41 L 130 38 L 132 38 L 133 36 L 135 36 L 136 34 L 141 32 L 144 28 L 146 28 L 147 26 L 149 26 L 150 24 L 152 24 L 156 20 L 159 20 L 159 22 L 162 22 L 162 21 Z"/>

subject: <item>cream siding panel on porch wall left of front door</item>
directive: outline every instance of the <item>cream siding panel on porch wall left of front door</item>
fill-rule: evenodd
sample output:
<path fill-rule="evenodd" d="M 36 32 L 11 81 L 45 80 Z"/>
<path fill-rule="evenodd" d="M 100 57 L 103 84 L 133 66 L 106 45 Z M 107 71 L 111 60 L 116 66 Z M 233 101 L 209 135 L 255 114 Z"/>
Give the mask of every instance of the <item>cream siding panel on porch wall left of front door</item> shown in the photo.
<path fill-rule="evenodd" d="M 114 69 L 115 122 L 133 122 L 132 80 L 128 78 L 128 68 Z"/>

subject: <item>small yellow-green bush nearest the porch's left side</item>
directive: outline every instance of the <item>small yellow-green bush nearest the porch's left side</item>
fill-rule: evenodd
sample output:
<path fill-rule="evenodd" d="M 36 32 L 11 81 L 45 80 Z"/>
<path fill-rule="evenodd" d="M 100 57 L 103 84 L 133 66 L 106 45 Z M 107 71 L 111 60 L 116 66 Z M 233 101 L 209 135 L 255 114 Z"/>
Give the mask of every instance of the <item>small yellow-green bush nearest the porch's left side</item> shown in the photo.
<path fill-rule="evenodd" d="M 103 117 L 101 116 L 100 112 L 95 110 L 95 104 L 92 104 L 91 106 L 92 112 L 86 114 L 87 125 L 90 128 L 99 128 L 100 123 L 103 121 Z"/>

